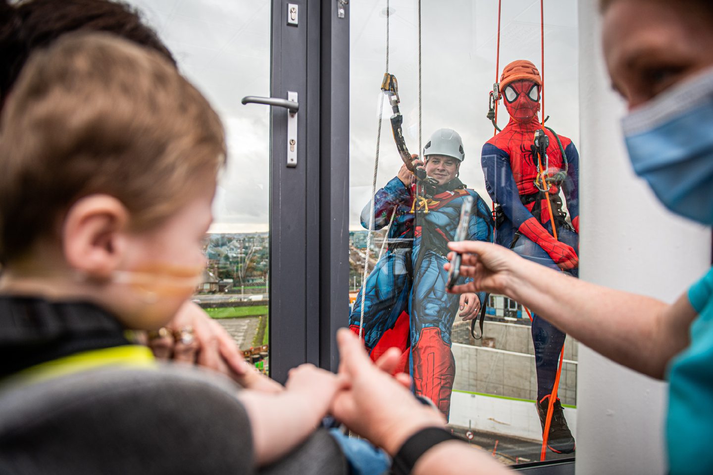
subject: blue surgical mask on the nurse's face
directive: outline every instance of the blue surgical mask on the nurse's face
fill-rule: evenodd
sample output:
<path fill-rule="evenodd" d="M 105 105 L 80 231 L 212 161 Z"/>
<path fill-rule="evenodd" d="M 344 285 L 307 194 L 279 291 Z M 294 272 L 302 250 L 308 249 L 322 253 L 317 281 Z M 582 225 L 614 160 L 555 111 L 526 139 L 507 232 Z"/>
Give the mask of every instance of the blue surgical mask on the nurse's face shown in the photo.
<path fill-rule="evenodd" d="M 631 163 L 678 215 L 713 225 L 713 69 L 622 121 Z"/>

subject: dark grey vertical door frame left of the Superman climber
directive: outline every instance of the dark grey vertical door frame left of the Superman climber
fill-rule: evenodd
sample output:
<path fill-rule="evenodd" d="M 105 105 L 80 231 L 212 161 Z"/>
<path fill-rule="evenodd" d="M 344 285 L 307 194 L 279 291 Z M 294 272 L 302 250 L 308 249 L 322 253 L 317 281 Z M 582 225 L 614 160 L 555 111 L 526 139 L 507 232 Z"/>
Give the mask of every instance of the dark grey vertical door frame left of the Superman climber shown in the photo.
<path fill-rule="evenodd" d="M 299 24 L 287 26 L 288 4 Z M 349 5 L 272 0 L 272 97 L 297 91 L 297 167 L 287 110 L 270 113 L 270 376 L 304 362 L 336 371 L 349 310 Z M 509 305 L 508 305 L 509 307 Z M 572 475 L 574 459 L 515 468 Z"/>

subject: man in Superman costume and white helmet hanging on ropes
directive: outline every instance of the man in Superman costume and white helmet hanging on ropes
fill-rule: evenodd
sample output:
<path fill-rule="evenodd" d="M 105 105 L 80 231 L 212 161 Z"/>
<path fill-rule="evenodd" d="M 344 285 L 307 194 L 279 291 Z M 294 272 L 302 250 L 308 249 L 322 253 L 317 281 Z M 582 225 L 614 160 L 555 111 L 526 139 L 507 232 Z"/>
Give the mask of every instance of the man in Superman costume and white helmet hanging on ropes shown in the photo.
<path fill-rule="evenodd" d="M 465 153 L 456 131 L 436 131 L 424 147 L 424 158 L 425 164 L 416 163 L 438 182 L 432 195 L 416 196 L 414 175 L 404 165 L 374 196 L 374 229 L 384 228 L 395 215 L 387 237 L 389 250 L 364 284 L 363 335 L 374 360 L 389 347 L 399 347 L 404 368 L 409 364 L 414 392 L 434 402 L 447 419 L 456 375 L 453 320 L 458 312 L 463 320 L 472 320 L 485 299 L 484 292 L 446 292 L 447 243 L 455 237 L 468 195 L 473 198 L 468 239 L 491 242 L 493 223 L 488 205 L 458 180 Z M 369 227 L 370 215 L 367 203 L 361 212 L 364 228 Z M 349 315 L 349 327 L 357 334 L 360 320 L 361 291 Z"/>

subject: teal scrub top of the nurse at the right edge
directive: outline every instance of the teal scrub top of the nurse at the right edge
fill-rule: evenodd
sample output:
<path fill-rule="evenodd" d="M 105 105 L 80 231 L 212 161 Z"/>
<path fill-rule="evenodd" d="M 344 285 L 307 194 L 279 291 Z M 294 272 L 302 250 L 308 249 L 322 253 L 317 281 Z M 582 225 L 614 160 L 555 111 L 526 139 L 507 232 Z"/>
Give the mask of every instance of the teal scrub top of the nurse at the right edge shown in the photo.
<path fill-rule="evenodd" d="M 691 344 L 668 373 L 670 473 L 713 474 L 713 268 L 688 290 L 688 300 L 698 312 Z"/>

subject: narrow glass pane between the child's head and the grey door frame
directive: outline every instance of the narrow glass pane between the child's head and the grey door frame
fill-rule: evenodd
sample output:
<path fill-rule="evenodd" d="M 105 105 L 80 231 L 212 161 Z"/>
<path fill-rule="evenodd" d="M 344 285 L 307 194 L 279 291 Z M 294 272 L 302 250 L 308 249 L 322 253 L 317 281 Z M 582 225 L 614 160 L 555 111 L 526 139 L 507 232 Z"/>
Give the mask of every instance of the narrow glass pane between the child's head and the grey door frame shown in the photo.
<path fill-rule="evenodd" d="M 267 372 L 270 2 L 133 0 L 210 100 L 225 126 L 228 166 L 205 242 L 207 269 L 194 302 L 225 327 L 245 358 Z"/>

